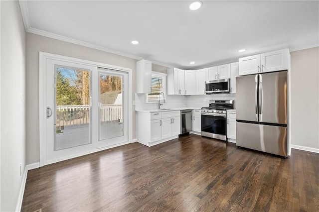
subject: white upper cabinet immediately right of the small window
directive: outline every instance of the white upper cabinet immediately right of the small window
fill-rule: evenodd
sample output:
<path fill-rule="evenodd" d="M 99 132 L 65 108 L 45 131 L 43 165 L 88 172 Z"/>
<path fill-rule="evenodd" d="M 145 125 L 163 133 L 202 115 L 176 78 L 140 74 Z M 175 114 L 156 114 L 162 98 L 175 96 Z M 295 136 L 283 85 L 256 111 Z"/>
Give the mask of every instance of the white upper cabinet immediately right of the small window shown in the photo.
<path fill-rule="evenodd" d="M 167 69 L 167 95 L 185 95 L 184 70 Z"/>

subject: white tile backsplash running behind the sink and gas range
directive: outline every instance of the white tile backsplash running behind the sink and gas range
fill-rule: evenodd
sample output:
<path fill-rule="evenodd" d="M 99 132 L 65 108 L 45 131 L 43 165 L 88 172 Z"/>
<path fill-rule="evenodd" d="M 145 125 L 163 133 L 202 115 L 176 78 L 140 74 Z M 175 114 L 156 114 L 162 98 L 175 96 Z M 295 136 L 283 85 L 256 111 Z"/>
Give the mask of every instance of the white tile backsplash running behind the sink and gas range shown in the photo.
<path fill-rule="evenodd" d="M 212 94 L 198 96 L 167 95 L 163 108 L 172 107 L 204 107 L 209 106 L 212 100 L 234 100 L 236 108 L 236 94 Z M 135 109 L 156 109 L 157 103 L 146 103 L 145 94 L 135 94 Z"/>

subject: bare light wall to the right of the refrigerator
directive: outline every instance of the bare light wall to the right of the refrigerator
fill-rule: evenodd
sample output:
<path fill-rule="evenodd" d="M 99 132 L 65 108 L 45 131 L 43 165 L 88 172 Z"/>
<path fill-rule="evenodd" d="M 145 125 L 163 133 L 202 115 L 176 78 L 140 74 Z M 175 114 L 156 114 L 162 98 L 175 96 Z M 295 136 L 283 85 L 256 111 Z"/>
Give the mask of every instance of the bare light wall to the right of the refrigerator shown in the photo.
<path fill-rule="evenodd" d="M 291 143 L 319 152 L 319 47 L 291 52 Z"/>

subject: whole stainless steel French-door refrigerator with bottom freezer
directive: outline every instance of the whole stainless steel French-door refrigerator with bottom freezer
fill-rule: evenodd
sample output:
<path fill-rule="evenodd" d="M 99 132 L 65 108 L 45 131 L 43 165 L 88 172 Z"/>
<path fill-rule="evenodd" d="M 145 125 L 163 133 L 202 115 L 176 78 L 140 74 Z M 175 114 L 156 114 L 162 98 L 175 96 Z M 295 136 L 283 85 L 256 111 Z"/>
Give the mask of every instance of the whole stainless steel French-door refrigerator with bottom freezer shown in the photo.
<path fill-rule="evenodd" d="M 287 71 L 236 78 L 236 145 L 288 156 Z"/>

